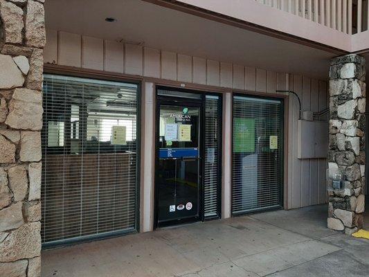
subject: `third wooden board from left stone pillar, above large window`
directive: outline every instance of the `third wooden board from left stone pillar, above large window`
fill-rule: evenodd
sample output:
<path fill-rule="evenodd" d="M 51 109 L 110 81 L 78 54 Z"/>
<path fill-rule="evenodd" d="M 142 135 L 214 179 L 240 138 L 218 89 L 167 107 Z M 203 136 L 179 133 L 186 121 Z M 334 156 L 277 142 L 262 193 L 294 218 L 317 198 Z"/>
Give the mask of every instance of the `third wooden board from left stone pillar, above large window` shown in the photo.
<path fill-rule="evenodd" d="M 82 37 L 82 68 L 104 70 L 104 41 Z"/>

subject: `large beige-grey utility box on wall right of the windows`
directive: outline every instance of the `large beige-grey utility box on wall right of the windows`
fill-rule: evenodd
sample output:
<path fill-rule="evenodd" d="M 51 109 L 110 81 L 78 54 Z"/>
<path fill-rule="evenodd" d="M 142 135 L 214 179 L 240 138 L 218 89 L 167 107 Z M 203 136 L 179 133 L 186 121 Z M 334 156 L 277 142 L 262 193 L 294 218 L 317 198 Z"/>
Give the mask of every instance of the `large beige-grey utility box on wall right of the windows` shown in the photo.
<path fill-rule="evenodd" d="M 327 122 L 298 120 L 298 159 L 326 158 L 328 130 Z"/>

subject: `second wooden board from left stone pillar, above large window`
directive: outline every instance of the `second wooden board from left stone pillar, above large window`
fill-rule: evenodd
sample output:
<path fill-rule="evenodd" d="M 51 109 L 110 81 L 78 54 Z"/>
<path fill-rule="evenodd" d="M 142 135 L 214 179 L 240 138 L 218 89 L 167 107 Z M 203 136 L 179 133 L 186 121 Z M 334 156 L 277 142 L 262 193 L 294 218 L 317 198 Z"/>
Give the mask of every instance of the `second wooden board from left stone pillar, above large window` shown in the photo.
<path fill-rule="evenodd" d="M 57 64 L 81 67 L 81 40 L 80 35 L 59 32 Z"/>

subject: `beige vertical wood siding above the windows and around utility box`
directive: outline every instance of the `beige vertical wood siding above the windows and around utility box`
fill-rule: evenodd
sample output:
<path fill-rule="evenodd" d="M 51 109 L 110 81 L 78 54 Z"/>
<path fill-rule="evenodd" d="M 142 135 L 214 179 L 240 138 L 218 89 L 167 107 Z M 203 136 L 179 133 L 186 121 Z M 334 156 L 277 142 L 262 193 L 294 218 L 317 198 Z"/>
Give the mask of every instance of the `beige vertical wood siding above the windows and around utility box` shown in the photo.
<path fill-rule="evenodd" d="M 47 30 L 46 35 L 45 63 L 262 93 L 291 89 L 300 96 L 303 110 L 321 111 L 327 107 L 327 82 L 323 80 L 56 30 Z M 325 203 L 326 160 L 297 159 L 296 97 L 289 96 L 288 109 L 287 208 Z"/>

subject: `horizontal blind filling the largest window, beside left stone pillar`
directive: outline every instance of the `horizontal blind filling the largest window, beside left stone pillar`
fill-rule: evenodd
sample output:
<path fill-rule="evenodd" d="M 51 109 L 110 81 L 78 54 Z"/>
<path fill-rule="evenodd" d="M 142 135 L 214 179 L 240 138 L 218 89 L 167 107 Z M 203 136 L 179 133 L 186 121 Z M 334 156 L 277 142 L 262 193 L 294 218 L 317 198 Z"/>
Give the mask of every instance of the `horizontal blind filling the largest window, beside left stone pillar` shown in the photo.
<path fill-rule="evenodd" d="M 42 242 L 136 228 L 136 84 L 44 75 Z"/>

